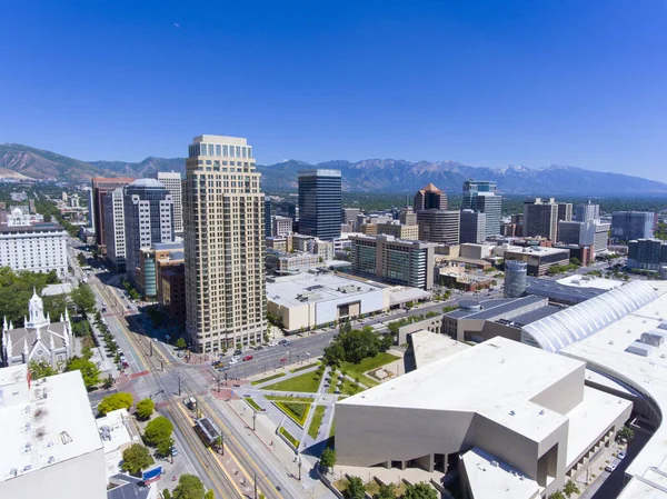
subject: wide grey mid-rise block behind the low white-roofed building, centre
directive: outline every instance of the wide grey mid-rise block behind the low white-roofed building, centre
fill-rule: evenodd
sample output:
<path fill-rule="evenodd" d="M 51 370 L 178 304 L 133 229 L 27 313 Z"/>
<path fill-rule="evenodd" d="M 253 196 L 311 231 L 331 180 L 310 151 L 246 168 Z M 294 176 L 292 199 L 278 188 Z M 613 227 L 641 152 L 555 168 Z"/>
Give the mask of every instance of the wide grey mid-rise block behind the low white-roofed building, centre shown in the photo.
<path fill-rule="evenodd" d="M 350 236 L 352 270 L 429 290 L 434 287 L 436 244 L 394 236 Z"/>

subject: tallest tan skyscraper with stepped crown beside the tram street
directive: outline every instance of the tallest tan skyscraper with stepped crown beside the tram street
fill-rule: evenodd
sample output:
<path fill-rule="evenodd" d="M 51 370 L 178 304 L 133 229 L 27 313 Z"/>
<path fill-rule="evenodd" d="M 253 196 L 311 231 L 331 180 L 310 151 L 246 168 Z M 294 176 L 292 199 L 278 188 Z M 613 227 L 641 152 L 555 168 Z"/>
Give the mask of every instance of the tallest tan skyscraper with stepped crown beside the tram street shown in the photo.
<path fill-rule="evenodd" d="M 187 332 L 199 352 L 259 342 L 266 331 L 265 196 L 252 148 L 199 136 L 183 183 Z"/>

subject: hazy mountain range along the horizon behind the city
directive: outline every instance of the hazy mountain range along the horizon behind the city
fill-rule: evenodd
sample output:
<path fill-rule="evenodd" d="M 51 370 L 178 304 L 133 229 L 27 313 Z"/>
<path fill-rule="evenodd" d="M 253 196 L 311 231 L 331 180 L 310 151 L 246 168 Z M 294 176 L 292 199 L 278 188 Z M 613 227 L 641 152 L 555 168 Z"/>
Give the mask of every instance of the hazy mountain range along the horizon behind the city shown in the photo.
<path fill-rule="evenodd" d="M 185 173 L 185 158 L 149 157 L 140 162 L 82 161 L 17 143 L 0 144 L 0 178 L 88 181 L 91 177 L 155 177 L 158 171 Z M 507 194 L 646 196 L 667 194 L 667 183 L 639 177 L 550 166 L 530 169 L 470 167 L 456 161 L 410 162 L 394 159 L 346 160 L 310 164 L 286 160 L 260 166 L 266 191 L 297 188 L 298 171 L 306 168 L 341 170 L 342 187 L 361 192 L 415 192 L 429 182 L 460 192 L 465 180 L 491 180 Z"/>

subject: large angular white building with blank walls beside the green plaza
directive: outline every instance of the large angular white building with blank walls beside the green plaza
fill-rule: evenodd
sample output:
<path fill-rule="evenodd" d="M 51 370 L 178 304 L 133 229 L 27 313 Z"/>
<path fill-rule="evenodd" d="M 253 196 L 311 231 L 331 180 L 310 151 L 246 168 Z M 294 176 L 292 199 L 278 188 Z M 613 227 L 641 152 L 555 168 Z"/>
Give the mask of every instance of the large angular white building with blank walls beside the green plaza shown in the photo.
<path fill-rule="evenodd" d="M 494 338 L 336 403 L 338 463 L 444 471 L 474 499 L 548 497 L 584 472 L 633 403 L 586 363 Z"/>

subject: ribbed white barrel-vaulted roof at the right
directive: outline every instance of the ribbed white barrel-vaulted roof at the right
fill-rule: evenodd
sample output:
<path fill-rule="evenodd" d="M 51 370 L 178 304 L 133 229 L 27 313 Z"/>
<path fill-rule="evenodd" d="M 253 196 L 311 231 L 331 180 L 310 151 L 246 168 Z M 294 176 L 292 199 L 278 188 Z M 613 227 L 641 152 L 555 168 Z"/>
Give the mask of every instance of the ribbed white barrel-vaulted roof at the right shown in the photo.
<path fill-rule="evenodd" d="M 583 303 L 525 326 L 521 341 L 559 351 L 658 298 L 646 282 L 633 281 Z"/>

